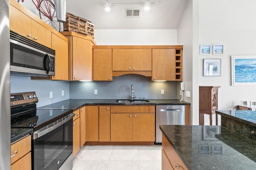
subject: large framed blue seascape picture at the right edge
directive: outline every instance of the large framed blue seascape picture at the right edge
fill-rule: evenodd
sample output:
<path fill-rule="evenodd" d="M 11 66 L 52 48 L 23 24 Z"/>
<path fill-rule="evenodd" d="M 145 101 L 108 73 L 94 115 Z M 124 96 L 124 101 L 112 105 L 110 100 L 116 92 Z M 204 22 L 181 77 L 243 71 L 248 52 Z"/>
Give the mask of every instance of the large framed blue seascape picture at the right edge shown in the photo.
<path fill-rule="evenodd" d="M 231 85 L 256 85 L 256 55 L 231 56 Z"/>

